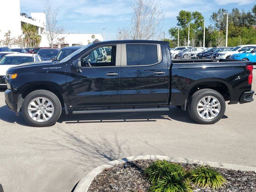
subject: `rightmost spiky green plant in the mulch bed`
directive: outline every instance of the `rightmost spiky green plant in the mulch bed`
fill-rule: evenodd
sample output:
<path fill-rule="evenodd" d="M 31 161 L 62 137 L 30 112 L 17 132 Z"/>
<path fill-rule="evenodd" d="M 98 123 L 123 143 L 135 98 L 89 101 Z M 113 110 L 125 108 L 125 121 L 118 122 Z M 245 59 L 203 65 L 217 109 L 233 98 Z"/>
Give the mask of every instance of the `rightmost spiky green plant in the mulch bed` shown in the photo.
<path fill-rule="evenodd" d="M 190 180 L 199 187 L 213 189 L 220 188 L 227 182 L 216 170 L 205 166 L 192 170 Z"/>

